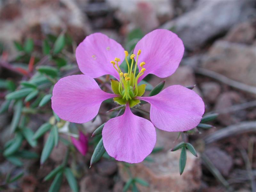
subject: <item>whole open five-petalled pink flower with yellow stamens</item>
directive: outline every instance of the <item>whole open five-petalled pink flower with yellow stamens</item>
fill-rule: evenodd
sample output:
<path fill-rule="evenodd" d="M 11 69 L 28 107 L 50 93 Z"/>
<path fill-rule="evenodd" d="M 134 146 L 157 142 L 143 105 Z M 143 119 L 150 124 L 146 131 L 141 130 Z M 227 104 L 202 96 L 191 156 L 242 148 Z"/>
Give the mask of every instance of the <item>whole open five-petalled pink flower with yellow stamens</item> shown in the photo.
<path fill-rule="evenodd" d="M 106 99 L 126 104 L 123 115 L 105 124 L 103 144 L 116 160 L 139 163 L 155 146 L 155 126 L 169 132 L 193 129 L 204 114 L 204 102 L 194 91 L 180 85 L 169 86 L 152 97 L 141 97 L 145 90 L 145 86 L 144 90 L 138 86 L 141 79 L 148 74 L 165 78 L 178 68 L 184 45 L 176 34 L 156 29 L 138 42 L 133 53 L 129 63 L 128 52 L 113 39 L 101 33 L 87 36 L 76 49 L 76 60 L 84 75 L 67 76 L 55 84 L 52 109 L 64 120 L 85 123 L 98 114 L 101 102 Z M 123 73 L 118 65 L 124 59 L 128 73 Z M 132 73 L 132 66 L 134 70 L 138 67 L 137 76 Z M 115 94 L 103 92 L 93 79 L 106 74 L 119 81 L 117 90 L 113 89 Z M 130 107 L 140 100 L 150 103 L 152 123 L 132 113 Z"/>

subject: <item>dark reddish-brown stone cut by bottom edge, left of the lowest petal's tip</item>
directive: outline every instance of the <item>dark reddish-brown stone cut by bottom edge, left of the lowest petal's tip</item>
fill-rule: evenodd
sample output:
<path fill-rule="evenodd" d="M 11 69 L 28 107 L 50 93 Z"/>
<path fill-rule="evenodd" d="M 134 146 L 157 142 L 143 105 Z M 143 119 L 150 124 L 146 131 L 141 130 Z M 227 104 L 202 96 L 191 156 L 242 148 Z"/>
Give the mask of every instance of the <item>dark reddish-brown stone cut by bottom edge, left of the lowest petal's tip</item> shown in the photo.
<path fill-rule="evenodd" d="M 113 185 L 113 180 L 98 174 L 87 175 L 80 181 L 80 191 L 83 192 L 102 192 L 108 191 Z M 110 190 L 109 190 L 110 191 Z"/>

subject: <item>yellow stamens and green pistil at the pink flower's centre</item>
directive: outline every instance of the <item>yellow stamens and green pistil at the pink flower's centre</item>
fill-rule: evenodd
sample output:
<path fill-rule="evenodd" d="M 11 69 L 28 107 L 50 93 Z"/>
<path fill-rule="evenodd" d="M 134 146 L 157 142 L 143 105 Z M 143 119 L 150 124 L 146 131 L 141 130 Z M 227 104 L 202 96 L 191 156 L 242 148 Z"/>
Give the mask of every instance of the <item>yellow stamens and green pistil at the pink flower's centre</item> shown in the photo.
<path fill-rule="evenodd" d="M 138 95 L 138 79 L 140 76 L 143 75 L 144 71 L 146 70 L 145 68 L 143 68 L 143 66 L 145 65 L 145 62 L 141 62 L 140 67 L 142 68 L 136 76 L 136 70 L 138 67 L 138 58 L 140 53 L 141 53 L 141 50 L 139 50 L 137 53 L 133 72 L 132 72 L 132 69 L 133 69 L 134 57 L 136 56 L 135 54 L 131 54 L 130 56 L 132 60 L 131 67 L 130 67 L 130 64 L 127 60 L 127 57 L 129 54 L 127 51 L 124 51 L 125 61 L 128 66 L 128 73 L 123 73 L 122 70 L 120 69 L 118 62 L 120 62 L 121 60 L 119 58 L 115 58 L 115 61 L 110 61 L 110 63 L 113 64 L 113 67 L 116 69 L 116 71 L 119 73 L 119 76 L 120 76 L 119 85 L 118 85 L 119 94 L 121 95 L 122 99 L 125 99 L 127 101 L 131 100 L 132 98 Z M 139 70 L 139 67 L 138 67 L 138 70 Z"/>

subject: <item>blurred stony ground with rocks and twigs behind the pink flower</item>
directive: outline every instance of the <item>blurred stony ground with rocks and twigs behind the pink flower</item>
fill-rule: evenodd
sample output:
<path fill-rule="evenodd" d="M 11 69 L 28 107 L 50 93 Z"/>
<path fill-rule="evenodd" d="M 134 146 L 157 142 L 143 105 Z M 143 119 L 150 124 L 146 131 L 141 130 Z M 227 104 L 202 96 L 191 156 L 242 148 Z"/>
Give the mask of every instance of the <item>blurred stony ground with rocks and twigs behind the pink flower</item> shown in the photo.
<path fill-rule="evenodd" d="M 129 51 L 156 28 L 176 33 L 185 45 L 185 54 L 177 71 L 165 79 L 164 86 L 196 85 L 193 90 L 203 98 L 205 113 L 219 113 L 219 116 L 210 123 L 212 128 L 198 128 L 187 135 L 186 140 L 196 148 L 199 158 L 188 152 L 181 176 L 180 152 L 170 152 L 181 140 L 177 140 L 178 133 L 157 130 L 159 150 L 130 167 L 134 177 L 149 184 L 138 184 L 137 189 L 256 191 L 256 1 L 2 0 L 0 6 L 0 104 L 21 80 L 28 80 L 34 73 L 33 67 L 66 66 L 62 76 L 80 74 L 75 49 L 94 32 L 106 34 Z M 63 50 L 49 59 L 44 42 L 48 41 L 52 47 L 51 42 L 64 33 Z M 152 86 L 161 81 L 163 79 L 156 76 L 148 77 Z M 104 103 L 100 114 L 116 107 L 110 105 Z M 38 112 L 36 107 L 24 104 L 24 108 L 34 110 L 33 113 L 22 111 L 30 114 L 27 126 L 33 132 L 52 115 L 45 112 L 50 106 L 48 103 Z M 142 108 L 149 110 L 149 105 Z M 11 107 L 0 115 L 0 186 L 6 175 L 22 172 L 21 177 L 4 190 L 48 191 L 52 181 L 42 180 L 61 163 L 67 147 L 60 143 L 43 165 L 38 158 L 24 158 L 20 166 L 17 162 L 13 164 L 2 155 L 4 145 L 14 136 L 10 132 L 13 116 L 15 108 Z M 90 138 L 106 118 L 98 116 L 95 121 L 83 124 L 82 129 Z M 46 138 L 46 135 L 40 138 L 34 148 L 24 140 L 20 148 L 40 155 Z M 89 169 L 92 151 L 93 147 L 89 147 L 85 157 L 76 156 L 73 171 L 80 191 L 123 191 L 129 179 L 124 164 L 102 158 Z M 69 162 L 71 167 L 73 163 Z M 63 180 L 60 191 L 70 190 L 67 180 Z"/>

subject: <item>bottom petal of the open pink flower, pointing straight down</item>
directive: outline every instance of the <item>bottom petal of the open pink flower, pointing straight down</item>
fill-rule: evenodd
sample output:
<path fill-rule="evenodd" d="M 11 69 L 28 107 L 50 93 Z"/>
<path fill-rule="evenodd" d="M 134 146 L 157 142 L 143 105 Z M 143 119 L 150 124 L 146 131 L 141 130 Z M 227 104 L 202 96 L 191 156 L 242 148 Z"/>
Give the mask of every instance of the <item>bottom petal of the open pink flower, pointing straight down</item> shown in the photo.
<path fill-rule="evenodd" d="M 108 155 L 118 161 L 139 163 L 152 152 L 156 129 L 147 119 L 133 115 L 127 104 L 122 116 L 105 124 L 102 138 Z"/>

